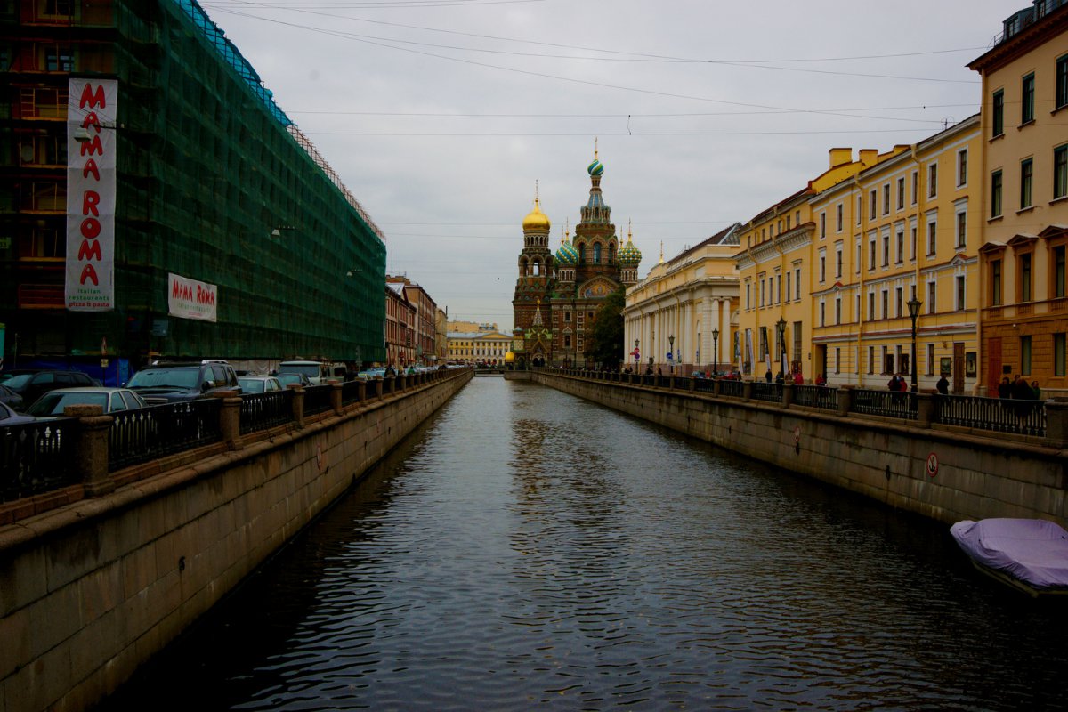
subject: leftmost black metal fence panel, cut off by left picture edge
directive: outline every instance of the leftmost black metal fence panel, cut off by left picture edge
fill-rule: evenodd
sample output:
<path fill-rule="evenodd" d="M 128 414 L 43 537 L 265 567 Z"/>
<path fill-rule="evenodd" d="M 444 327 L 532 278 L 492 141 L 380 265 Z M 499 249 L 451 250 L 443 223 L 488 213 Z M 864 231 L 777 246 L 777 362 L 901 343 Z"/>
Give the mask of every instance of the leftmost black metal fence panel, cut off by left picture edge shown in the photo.
<path fill-rule="evenodd" d="M 77 427 L 60 418 L 0 428 L 0 502 L 76 485 Z"/>

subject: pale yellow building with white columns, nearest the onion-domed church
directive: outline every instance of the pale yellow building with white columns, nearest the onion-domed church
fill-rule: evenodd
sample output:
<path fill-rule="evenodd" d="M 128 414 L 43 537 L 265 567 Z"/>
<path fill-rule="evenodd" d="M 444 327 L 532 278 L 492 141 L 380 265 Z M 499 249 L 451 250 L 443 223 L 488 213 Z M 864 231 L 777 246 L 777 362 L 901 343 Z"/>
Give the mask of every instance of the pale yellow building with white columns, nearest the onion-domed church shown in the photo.
<path fill-rule="evenodd" d="M 627 366 L 640 363 L 642 370 L 651 366 L 684 375 L 733 368 L 739 230 L 735 223 L 670 262 L 661 254 L 646 278 L 627 289 L 623 312 Z"/>

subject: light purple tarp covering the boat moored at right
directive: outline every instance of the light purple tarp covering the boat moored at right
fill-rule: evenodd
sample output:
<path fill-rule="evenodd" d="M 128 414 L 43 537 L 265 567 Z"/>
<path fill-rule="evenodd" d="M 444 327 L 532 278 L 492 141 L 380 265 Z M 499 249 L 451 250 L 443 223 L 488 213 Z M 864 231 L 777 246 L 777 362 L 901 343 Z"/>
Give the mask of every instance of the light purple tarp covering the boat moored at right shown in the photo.
<path fill-rule="evenodd" d="M 1034 588 L 1068 587 L 1068 532 L 1045 519 L 957 522 L 949 534 L 974 561 Z"/>

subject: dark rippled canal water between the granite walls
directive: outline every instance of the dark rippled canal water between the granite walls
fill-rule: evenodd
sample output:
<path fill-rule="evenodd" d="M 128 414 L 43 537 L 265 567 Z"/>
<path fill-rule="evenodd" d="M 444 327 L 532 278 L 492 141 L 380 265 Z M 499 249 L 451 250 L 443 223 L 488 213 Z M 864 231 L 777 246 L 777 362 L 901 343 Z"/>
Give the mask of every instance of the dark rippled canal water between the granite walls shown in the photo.
<path fill-rule="evenodd" d="M 1066 603 L 942 524 L 476 378 L 104 707 L 1061 710 Z"/>

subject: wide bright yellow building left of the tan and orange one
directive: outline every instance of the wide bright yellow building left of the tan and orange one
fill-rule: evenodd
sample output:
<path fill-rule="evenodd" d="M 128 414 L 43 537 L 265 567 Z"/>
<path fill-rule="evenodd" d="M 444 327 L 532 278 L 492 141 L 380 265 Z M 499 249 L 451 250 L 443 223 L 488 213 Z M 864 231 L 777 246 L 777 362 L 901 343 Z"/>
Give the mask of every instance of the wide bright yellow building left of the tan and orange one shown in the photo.
<path fill-rule="evenodd" d="M 894 374 L 971 393 L 977 373 L 978 116 L 897 146 L 810 200 L 812 374 L 882 389 Z M 863 156 L 862 156 L 863 162 Z M 916 368 L 910 302 L 917 308 Z M 806 373 L 806 376 L 808 374 Z M 913 380 L 914 377 L 914 380 Z"/>

